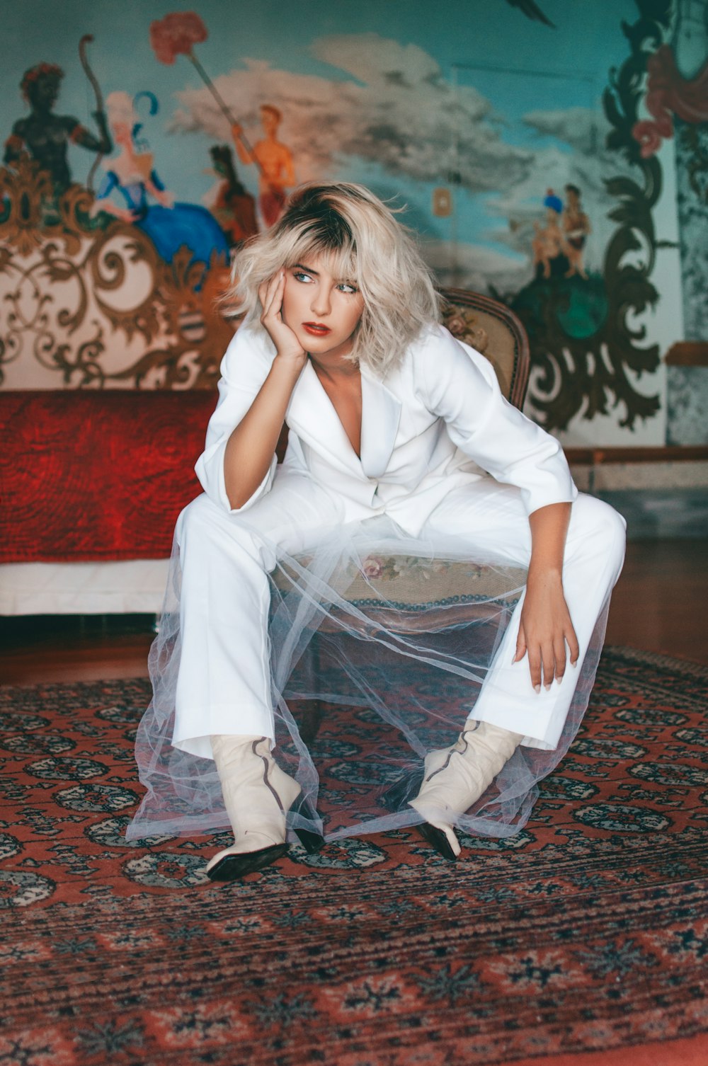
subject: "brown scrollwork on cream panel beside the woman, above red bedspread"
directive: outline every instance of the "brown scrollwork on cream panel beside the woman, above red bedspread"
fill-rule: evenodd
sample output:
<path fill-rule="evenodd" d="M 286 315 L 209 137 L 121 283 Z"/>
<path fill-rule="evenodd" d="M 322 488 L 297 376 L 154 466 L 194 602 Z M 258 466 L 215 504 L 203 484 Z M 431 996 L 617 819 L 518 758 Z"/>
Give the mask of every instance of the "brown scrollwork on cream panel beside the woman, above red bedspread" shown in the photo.
<path fill-rule="evenodd" d="M 22 156 L 0 168 L 0 383 L 9 388 L 212 388 L 234 327 L 228 266 L 91 216 L 93 194 Z"/>

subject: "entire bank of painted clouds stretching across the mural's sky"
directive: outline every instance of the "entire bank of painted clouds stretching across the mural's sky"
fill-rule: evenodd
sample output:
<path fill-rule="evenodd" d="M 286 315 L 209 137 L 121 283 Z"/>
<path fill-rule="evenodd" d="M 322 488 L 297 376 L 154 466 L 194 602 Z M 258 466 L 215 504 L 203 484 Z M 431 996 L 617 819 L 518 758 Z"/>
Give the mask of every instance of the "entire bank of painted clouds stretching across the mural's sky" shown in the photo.
<path fill-rule="evenodd" d="M 393 179 L 437 184 L 458 169 L 461 215 L 472 212 L 488 221 L 487 243 L 457 243 L 452 254 L 449 242 L 431 238 L 425 254 L 444 279 L 449 275 L 451 282 L 482 289 L 486 280 L 505 290 L 531 277 L 533 222 L 543 219 L 546 190 L 563 195 L 573 182 L 582 190 L 593 224 L 588 261 L 600 265 L 612 228 L 602 179 L 627 169 L 604 149 L 607 127 L 600 114 L 577 107 L 529 112 L 524 123 L 538 133 L 540 146 L 520 147 L 508 143 L 513 131 L 502 139 L 504 127 L 487 98 L 472 86 L 455 88 L 416 45 L 374 33 L 340 34 L 320 37 L 311 51 L 338 76 L 292 74 L 244 60 L 244 69 L 215 79 L 252 135 L 260 104 L 281 108 L 283 139 L 296 159 L 299 180 L 358 176 L 364 163 Z M 228 125 L 206 88 L 177 96 L 174 131 L 228 139 Z"/>

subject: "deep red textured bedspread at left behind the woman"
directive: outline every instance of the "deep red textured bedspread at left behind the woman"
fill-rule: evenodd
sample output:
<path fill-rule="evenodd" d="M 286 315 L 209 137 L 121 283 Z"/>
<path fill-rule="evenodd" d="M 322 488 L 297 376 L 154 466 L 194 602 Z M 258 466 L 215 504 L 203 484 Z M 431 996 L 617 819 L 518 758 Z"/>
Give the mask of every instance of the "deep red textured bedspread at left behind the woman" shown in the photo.
<path fill-rule="evenodd" d="M 0 562 L 161 559 L 212 391 L 0 391 Z"/>

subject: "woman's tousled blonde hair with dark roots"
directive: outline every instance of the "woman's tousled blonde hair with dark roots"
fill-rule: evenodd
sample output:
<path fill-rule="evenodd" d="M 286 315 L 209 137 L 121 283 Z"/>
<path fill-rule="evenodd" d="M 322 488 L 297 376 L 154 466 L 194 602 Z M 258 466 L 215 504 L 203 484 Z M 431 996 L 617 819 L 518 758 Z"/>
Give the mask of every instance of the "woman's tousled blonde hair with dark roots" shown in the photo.
<path fill-rule="evenodd" d="M 296 189 L 279 221 L 237 253 L 226 300 L 234 313 L 257 320 L 258 287 L 278 270 L 321 255 L 364 300 L 345 358 L 383 377 L 420 332 L 439 321 L 440 297 L 409 230 L 364 185 L 310 182 Z"/>

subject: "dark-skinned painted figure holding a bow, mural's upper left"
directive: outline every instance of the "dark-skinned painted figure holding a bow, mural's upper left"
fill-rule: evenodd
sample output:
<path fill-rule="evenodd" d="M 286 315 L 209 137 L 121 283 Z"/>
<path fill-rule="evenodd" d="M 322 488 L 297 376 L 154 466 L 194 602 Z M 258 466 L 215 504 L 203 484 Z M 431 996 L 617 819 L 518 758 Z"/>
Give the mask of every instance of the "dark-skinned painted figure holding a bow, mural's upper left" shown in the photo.
<path fill-rule="evenodd" d="M 3 160 L 12 165 L 21 151 L 37 160 L 43 169 L 51 174 L 54 190 L 64 192 L 71 183 L 66 160 L 69 144 L 81 145 L 90 151 L 106 154 L 111 150 L 111 138 L 102 111 L 95 111 L 94 118 L 99 136 L 95 136 L 78 118 L 55 115 L 53 107 L 59 97 L 64 71 L 53 63 L 38 63 L 25 71 L 20 82 L 23 98 L 30 106 L 27 118 L 19 118 L 5 142 Z"/>

